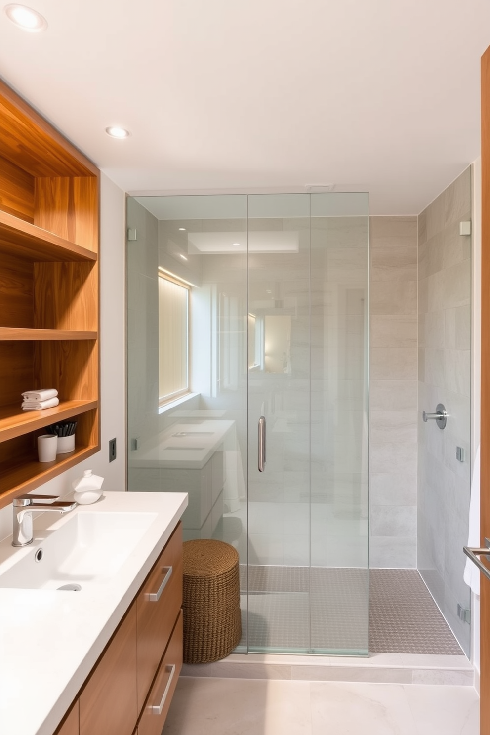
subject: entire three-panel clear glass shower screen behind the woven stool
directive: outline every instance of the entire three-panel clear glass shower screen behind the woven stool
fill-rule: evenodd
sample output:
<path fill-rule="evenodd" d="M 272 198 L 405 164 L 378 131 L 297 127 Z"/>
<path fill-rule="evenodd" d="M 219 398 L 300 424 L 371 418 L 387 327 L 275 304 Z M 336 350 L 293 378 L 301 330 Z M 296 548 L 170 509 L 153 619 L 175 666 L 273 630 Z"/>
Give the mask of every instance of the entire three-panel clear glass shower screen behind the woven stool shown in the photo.
<path fill-rule="evenodd" d="M 128 489 L 188 492 L 184 539 L 237 548 L 238 651 L 366 655 L 367 194 L 127 218 Z"/>

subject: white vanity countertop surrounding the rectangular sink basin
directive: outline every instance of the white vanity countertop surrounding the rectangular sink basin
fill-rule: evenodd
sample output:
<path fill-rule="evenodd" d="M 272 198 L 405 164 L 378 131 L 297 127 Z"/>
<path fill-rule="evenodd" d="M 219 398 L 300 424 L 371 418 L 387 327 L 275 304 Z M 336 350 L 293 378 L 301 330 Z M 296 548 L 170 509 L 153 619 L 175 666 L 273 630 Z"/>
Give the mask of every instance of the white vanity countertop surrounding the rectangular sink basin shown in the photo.
<path fill-rule="evenodd" d="M 35 553 L 73 514 L 150 512 L 155 520 L 104 584 L 79 592 L 0 589 L 0 733 L 52 735 L 78 695 L 187 507 L 183 492 L 107 492 L 97 503 L 35 514 L 34 542 L 0 543 L 0 575 L 18 555 Z"/>

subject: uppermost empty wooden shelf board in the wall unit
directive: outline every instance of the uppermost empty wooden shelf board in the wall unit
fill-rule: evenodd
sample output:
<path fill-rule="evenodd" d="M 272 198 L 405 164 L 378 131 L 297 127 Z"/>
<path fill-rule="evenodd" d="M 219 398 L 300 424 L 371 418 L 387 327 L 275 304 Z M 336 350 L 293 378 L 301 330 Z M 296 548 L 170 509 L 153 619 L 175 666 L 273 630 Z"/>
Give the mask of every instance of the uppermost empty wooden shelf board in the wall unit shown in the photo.
<path fill-rule="evenodd" d="M 97 253 L 1 210 L 0 252 L 33 262 L 97 260 Z"/>

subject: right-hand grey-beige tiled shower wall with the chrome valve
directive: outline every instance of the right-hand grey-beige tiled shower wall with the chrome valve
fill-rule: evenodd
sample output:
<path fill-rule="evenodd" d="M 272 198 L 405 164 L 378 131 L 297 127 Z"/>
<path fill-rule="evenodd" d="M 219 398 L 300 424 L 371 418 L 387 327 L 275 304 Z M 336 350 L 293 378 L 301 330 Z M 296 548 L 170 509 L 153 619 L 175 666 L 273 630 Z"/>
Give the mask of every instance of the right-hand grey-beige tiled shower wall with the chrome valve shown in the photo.
<path fill-rule="evenodd" d="M 471 168 L 419 215 L 418 561 L 430 592 L 469 653 L 469 607 L 463 581 L 470 488 Z M 450 417 L 441 431 L 421 412 L 442 403 Z M 456 459 L 456 447 L 465 461 Z"/>

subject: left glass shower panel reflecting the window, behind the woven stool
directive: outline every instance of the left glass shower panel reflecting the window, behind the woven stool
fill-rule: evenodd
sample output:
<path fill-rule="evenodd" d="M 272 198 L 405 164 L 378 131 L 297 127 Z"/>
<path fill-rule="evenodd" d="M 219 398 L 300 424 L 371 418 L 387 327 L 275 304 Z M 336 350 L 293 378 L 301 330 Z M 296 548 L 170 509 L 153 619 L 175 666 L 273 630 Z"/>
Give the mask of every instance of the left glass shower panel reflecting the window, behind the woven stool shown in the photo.
<path fill-rule="evenodd" d="M 221 539 L 237 548 L 244 631 L 246 218 L 246 196 L 128 200 L 128 227 L 137 237 L 129 241 L 127 255 L 128 487 L 188 492 L 184 539 Z M 175 293 L 161 298 L 159 309 L 164 279 L 171 279 L 166 282 Z M 186 371 L 188 392 L 179 385 Z M 166 386 L 165 393 L 185 395 L 167 395 L 174 400 L 159 405 L 159 385 Z"/>

